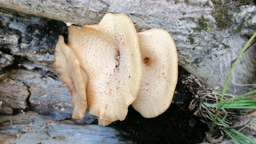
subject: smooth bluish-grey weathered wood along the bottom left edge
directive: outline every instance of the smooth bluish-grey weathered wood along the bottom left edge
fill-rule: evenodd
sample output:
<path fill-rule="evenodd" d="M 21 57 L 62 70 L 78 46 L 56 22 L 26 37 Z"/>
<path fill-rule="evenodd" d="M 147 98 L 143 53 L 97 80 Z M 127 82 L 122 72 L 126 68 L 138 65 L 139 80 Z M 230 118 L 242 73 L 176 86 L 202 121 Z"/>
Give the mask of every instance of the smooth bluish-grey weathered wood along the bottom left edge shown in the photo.
<path fill-rule="evenodd" d="M 13 128 L 15 127 L 15 129 Z M 99 125 L 54 121 L 28 111 L 0 117 L 0 143 L 131 143 L 122 133 Z M 97 136 L 97 138 L 95 138 Z"/>

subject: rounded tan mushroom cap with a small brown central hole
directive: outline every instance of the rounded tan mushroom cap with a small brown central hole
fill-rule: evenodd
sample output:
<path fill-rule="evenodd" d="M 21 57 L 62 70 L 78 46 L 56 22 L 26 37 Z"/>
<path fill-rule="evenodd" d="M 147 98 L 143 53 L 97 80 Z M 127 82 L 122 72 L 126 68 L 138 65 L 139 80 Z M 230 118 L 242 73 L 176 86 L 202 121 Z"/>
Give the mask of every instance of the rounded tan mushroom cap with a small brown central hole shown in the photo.
<path fill-rule="evenodd" d="M 178 56 L 171 35 L 163 29 L 138 33 L 142 82 L 132 106 L 143 117 L 162 114 L 171 104 L 178 79 Z"/>

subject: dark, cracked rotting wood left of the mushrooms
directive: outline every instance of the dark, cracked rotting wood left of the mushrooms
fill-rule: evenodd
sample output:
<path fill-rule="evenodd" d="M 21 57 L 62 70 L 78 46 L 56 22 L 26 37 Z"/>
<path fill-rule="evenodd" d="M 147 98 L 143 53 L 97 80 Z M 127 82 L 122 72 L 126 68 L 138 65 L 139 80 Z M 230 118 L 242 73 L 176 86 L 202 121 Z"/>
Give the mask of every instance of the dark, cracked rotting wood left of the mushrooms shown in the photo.
<path fill-rule="evenodd" d="M 70 94 L 53 67 L 57 37 L 67 35 L 65 23 L 16 14 L 0 17 L 0 112 L 33 108 L 54 119 L 70 117 Z"/>

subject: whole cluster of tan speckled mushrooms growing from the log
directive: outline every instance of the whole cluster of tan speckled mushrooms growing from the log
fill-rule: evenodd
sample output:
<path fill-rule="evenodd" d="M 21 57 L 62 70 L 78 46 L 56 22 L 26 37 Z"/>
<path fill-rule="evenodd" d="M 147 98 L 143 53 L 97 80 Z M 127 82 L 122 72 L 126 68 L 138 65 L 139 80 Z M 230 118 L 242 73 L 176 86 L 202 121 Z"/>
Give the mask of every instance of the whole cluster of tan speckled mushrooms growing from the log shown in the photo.
<path fill-rule="evenodd" d="M 71 93 L 73 118 L 89 114 L 99 125 L 123 121 L 132 105 L 156 117 L 171 104 L 178 78 L 174 41 L 163 29 L 136 32 L 125 14 L 107 13 L 98 25 L 68 27 L 59 36 L 54 65 Z"/>

